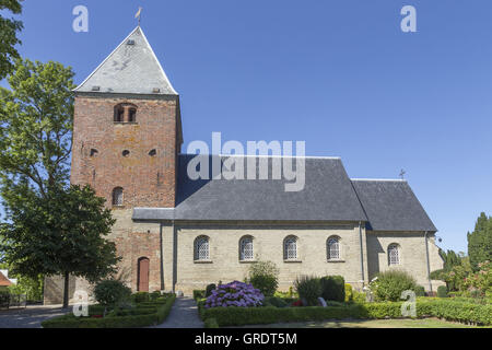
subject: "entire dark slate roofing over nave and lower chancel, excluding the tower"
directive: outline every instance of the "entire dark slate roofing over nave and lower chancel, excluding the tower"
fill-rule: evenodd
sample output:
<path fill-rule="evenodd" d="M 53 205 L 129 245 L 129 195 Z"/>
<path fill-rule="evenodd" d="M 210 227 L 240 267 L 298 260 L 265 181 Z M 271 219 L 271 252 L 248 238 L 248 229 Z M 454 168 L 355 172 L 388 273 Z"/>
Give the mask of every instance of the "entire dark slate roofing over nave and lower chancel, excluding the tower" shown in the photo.
<path fill-rule="evenodd" d="M 192 158 L 179 155 L 176 208 L 134 208 L 134 220 L 364 221 L 376 231 L 437 231 L 406 180 L 351 180 L 338 158 L 306 158 L 302 191 L 285 191 L 290 182 L 271 179 L 271 171 L 270 179 L 194 180 L 187 174 Z M 227 159 L 206 158 L 209 164 Z M 247 174 L 248 158 L 241 159 Z"/>

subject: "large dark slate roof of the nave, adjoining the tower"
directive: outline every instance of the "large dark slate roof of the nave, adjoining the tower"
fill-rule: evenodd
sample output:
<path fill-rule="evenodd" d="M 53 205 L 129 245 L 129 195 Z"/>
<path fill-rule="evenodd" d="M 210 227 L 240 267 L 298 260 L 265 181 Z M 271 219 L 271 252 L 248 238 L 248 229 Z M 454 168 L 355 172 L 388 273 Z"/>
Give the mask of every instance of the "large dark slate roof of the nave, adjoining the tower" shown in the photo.
<path fill-rule="evenodd" d="M 177 206 L 160 210 L 137 208 L 133 219 L 237 220 L 237 221 L 366 221 L 340 159 L 305 159 L 305 186 L 285 191 L 285 179 L 190 179 L 189 161 L 179 155 Z M 229 156 L 210 155 L 223 163 Z M 248 156 L 237 156 L 247 174 Z M 257 164 L 258 178 L 258 159 Z M 271 171 L 272 158 L 267 158 Z M 281 161 L 284 161 L 282 158 Z M 293 161 L 295 165 L 295 160 Z M 211 173 L 211 168 L 209 170 Z M 211 174 L 210 174 L 211 175 Z M 209 176 L 211 178 L 211 176 Z"/>

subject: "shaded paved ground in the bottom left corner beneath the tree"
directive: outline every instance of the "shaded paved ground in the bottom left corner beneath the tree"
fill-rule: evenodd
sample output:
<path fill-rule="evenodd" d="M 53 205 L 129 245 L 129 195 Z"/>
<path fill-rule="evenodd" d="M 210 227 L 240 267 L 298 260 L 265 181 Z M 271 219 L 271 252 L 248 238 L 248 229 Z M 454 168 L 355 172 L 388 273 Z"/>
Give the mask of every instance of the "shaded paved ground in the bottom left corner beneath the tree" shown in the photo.
<path fill-rule="evenodd" d="M 61 305 L 1 310 L 0 328 L 40 328 L 43 320 L 66 313 Z"/>

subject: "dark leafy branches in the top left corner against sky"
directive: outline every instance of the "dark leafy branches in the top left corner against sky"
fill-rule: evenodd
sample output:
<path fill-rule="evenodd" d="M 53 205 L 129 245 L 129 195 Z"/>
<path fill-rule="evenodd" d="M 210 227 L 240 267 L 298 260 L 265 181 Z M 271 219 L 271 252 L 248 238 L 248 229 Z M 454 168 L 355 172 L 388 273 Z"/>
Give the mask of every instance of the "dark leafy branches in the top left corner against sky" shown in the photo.
<path fill-rule="evenodd" d="M 22 12 L 22 0 L 0 0 L 0 11 L 9 10 L 13 14 Z M 0 15 L 0 80 L 14 68 L 14 60 L 20 58 L 15 45 L 21 44 L 17 32 L 23 28 L 21 21 L 5 19 Z"/>

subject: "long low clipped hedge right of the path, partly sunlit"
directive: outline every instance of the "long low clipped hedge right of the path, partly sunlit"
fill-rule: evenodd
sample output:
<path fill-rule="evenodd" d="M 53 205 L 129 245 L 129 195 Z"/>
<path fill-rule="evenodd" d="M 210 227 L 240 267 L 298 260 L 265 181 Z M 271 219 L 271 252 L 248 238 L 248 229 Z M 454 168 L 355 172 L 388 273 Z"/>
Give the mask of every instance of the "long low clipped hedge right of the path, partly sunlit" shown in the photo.
<path fill-rule="evenodd" d="M 214 318 L 219 326 L 261 325 L 325 319 L 401 318 L 402 302 L 345 304 L 343 306 L 306 307 L 212 307 L 199 303 L 203 320 Z M 418 301 L 417 317 L 438 317 L 446 320 L 492 325 L 492 305 L 442 301 Z"/>

